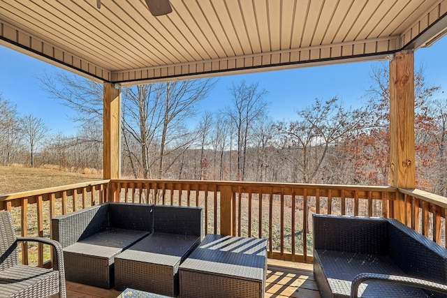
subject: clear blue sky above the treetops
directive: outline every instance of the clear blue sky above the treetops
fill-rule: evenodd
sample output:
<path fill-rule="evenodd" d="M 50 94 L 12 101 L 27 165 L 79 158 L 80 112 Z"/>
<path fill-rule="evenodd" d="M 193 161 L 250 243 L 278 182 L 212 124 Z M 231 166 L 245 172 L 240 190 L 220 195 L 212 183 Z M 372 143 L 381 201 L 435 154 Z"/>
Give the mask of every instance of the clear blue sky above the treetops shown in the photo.
<path fill-rule="evenodd" d="M 446 50 L 447 38 L 444 37 L 431 47 L 415 53 L 416 68 L 421 62 L 425 66 L 426 82 L 437 84 L 442 89 L 447 88 Z M 365 90 L 372 84 L 369 77 L 371 67 L 378 63 L 381 62 L 219 77 L 210 96 L 200 103 L 200 110 L 214 112 L 229 105 L 231 98 L 228 88 L 232 82 L 240 80 L 259 82 L 259 86 L 268 91 L 265 100 L 270 103 L 270 115 L 274 121 L 293 119 L 296 110 L 311 105 L 315 98 L 325 100 L 338 96 L 345 105 L 357 106 L 367 99 Z M 36 79 L 44 69 L 49 73 L 54 71 L 54 66 L 3 46 L 0 46 L 0 65 L 0 94 L 15 103 L 21 115 L 41 117 L 50 127 L 50 133 L 70 135 L 76 132 L 76 124 L 68 119 L 71 110 L 42 91 Z"/>

